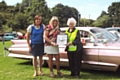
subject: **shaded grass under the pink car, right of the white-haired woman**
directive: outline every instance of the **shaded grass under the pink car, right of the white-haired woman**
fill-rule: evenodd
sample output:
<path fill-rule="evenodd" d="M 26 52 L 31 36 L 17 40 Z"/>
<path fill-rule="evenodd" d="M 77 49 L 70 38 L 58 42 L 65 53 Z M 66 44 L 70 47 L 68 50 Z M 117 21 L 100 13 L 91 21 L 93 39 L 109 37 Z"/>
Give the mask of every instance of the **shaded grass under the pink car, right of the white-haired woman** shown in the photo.
<path fill-rule="evenodd" d="M 82 69 L 81 78 L 82 79 L 98 79 L 98 80 L 119 79 L 120 72 Z"/>

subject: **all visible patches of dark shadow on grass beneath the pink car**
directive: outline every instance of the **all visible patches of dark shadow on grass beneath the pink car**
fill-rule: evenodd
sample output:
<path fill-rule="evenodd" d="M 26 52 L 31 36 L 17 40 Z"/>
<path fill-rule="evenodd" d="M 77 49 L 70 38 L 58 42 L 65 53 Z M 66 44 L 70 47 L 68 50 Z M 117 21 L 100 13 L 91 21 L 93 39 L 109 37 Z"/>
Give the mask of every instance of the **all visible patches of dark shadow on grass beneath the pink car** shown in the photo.
<path fill-rule="evenodd" d="M 25 61 L 23 63 L 18 63 L 18 65 L 31 65 L 32 66 L 32 61 Z M 45 67 L 45 68 L 48 68 Z M 54 69 L 56 69 L 56 67 L 54 66 Z M 61 67 L 61 70 L 69 70 L 69 67 Z M 70 73 L 70 72 L 69 72 Z M 55 79 L 61 79 L 64 78 L 63 80 L 67 79 L 67 80 L 76 80 L 75 77 L 69 76 L 69 74 L 67 73 L 63 73 L 64 77 L 58 76 L 56 75 Z M 49 74 L 45 74 L 45 76 L 49 76 Z M 109 79 L 120 79 L 120 71 L 119 72 L 112 72 L 112 71 L 100 71 L 100 70 L 88 70 L 88 69 L 82 69 L 81 70 L 81 79 L 84 80 L 109 80 Z"/>

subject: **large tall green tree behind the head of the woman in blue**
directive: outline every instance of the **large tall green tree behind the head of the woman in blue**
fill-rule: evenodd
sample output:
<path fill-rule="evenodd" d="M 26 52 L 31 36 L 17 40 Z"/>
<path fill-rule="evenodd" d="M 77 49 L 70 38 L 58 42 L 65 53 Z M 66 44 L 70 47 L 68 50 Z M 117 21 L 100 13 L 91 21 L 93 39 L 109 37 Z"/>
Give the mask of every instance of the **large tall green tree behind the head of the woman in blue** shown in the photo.
<path fill-rule="evenodd" d="M 23 0 L 21 4 L 16 5 L 12 20 L 9 20 L 7 25 L 13 30 L 26 30 L 28 25 L 33 23 L 36 14 L 43 17 L 43 23 L 48 23 L 50 9 L 45 0 Z"/>

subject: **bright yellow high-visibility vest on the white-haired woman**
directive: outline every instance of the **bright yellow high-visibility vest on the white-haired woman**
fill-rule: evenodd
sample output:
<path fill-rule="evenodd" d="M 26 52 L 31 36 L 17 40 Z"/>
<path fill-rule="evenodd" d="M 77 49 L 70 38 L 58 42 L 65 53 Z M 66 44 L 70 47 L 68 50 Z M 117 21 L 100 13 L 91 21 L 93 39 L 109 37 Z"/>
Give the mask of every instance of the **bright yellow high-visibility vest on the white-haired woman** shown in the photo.
<path fill-rule="evenodd" d="M 69 42 L 73 42 L 77 36 L 77 32 L 78 32 L 78 29 L 75 28 L 74 32 L 69 32 L 68 31 L 69 29 L 66 30 L 66 34 L 68 35 L 68 41 Z M 71 44 L 69 47 L 68 47 L 68 51 L 76 51 L 77 50 L 77 46 L 76 45 L 73 45 Z"/>

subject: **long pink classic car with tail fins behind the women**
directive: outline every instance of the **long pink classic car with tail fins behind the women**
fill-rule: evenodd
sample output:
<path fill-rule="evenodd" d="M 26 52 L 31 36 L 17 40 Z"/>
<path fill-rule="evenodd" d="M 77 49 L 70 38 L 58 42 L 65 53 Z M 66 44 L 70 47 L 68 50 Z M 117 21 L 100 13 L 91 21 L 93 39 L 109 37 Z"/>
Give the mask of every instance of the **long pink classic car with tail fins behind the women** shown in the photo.
<path fill-rule="evenodd" d="M 119 40 L 102 28 L 76 27 L 80 30 L 81 39 L 84 39 L 84 55 L 82 68 L 95 70 L 116 71 L 120 66 L 120 43 Z M 67 28 L 61 28 L 65 32 Z M 11 57 L 31 59 L 28 53 L 26 40 L 12 40 L 13 45 L 9 48 Z M 59 46 L 61 66 L 68 66 L 65 46 Z M 43 57 L 44 63 L 48 61 L 47 55 Z M 55 59 L 53 59 L 55 61 Z"/>

